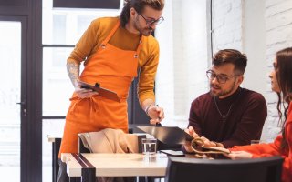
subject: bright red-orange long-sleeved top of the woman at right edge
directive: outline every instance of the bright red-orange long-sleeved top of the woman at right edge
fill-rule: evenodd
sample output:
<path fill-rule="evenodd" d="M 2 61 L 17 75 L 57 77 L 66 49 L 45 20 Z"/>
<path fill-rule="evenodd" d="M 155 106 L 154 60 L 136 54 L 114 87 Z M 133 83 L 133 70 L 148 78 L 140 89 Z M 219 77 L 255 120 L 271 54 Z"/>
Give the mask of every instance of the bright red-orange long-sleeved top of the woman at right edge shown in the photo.
<path fill-rule="evenodd" d="M 256 157 L 271 157 L 271 156 L 281 156 L 284 158 L 282 181 L 291 182 L 292 181 L 292 103 L 289 105 L 287 113 L 287 121 L 285 125 L 286 129 L 286 139 L 287 139 L 287 150 L 282 151 L 280 149 L 281 141 L 283 139 L 282 135 L 276 137 L 274 143 L 270 144 L 258 144 L 252 146 L 235 146 L 230 148 L 231 151 L 241 151 L 250 152 L 253 154 L 253 158 Z"/>

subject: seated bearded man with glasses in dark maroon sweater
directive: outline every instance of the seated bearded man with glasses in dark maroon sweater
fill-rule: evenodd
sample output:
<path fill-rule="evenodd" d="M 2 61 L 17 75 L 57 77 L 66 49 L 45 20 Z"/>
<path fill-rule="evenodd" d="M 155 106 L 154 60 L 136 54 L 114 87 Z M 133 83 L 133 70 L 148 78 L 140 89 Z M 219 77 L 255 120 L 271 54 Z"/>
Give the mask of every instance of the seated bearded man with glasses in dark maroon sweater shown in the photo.
<path fill-rule="evenodd" d="M 266 100 L 254 91 L 240 87 L 247 58 L 234 49 L 217 52 L 206 72 L 210 92 L 197 97 L 191 106 L 185 132 L 201 137 L 204 147 L 249 145 L 259 139 L 266 120 Z M 193 152 L 190 144 L 184 146 Z"/>

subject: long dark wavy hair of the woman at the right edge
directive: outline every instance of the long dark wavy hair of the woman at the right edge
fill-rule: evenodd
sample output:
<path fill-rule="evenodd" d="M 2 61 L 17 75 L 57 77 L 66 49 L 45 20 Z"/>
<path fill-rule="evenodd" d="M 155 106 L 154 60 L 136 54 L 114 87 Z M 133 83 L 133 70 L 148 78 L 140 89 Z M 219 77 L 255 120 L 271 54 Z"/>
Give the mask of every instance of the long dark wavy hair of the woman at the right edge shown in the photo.
<path fill-rule="evenodd" d="M 276 52 L 276 80 L 281 93 L 277 93 L 277 111 L 279 120 L 282 122 L 281 104 L 284 108 L 285 120 L 282 123 L 282 136 L 281 148 L 287 148 L 287 139 L 285 136 L 285 123 L 287 120 L 288 107 L 285 103 L 289 104 L 292 100 L 292 47 L 288 47 Z"/>

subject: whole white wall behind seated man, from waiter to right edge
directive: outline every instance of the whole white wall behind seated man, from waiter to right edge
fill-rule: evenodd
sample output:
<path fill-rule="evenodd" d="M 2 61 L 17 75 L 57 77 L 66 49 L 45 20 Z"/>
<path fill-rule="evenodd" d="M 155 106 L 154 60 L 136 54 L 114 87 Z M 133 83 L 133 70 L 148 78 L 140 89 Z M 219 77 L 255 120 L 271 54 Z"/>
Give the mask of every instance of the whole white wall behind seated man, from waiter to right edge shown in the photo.
<path fill-rule="evenodd" d="M 206 2 L 168 0 L 166 20 L 156 31 L 161 45 L 156 96 L 165 109 L 164 126 L 185 127 L 191 102 L 209 89 Z M 248 56 L 243 86 L 266 97 L 268 117 L 262 138 L 270 140 L 279 129 L 277 97 L 267 76 L 276 51 L 292 45 L 292 0 L 213 0 L 212 13 L 214 53 L 234 48 Z"/>

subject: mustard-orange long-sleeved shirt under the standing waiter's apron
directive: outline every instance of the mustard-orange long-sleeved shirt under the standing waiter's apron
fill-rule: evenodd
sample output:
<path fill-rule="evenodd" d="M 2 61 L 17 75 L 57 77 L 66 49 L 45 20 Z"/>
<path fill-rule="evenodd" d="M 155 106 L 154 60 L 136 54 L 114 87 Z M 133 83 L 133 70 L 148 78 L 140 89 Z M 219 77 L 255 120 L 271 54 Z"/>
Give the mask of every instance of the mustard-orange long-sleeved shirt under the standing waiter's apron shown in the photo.
<path fill-rule="evenodd" d="M 90 61 L 92 55 L 101 45 L 101 42 L 109 35 L 110 30 L 118 21 L 119 17 L 103 17 L 93 20 L 68 57 L 68 62 L 80 64 L 82 61 L 85 61 L 84 65 L 86 67 L 87 62 Z M 110 38 L 109 44 L 123 50 L 136 50 L 139 41 L 140 35 L 132 34 L 120 26 Z M 144 37 L 139 55 L 140 78 L 138 96 L 140 103 L 147 98 L 155 100 L 153 88 L 158 61 L 159 45 L 157 40 L 152 35 Z"/>

